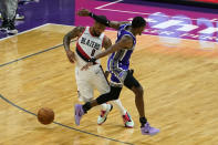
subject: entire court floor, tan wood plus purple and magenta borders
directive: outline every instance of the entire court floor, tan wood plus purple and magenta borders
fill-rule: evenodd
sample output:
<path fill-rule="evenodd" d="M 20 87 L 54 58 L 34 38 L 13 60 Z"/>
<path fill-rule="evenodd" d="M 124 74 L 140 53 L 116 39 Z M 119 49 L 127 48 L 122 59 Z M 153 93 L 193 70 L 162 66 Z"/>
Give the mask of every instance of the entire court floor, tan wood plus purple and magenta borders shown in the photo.
<path fill-rule="evenodd" d="M 141 134 L 134 94 L 127 89 L 121 101 L 134 128 L 124 127 L 116 107 L 101 126 L 100 107 L 90 111 L 80 126 L 74 124 L 74 104 L 81 102 L 74 64 L 68 61 L 62 40 L 74 25 L 92 25 L 91 18 L 75 15 L 81 8 L 111 20 L 142 15 L 148 21 L 137 37 L 131 68 L 145 90 L 146 116 L 160 128 L 158 135 Z M 0 35 L 0 145 L 217 145 L 218 13 L 214 10 L 129 0 L 48 0 L 19 11 L 25 15 L 17 22 L 20 33 Z M 116 31 L 108 29 L 105 34 L 115 41 Z M 103 68 L 105 62 L 102 59 Z M 54 111 L 52 124 L 38 122 L 41 107 Z"/>

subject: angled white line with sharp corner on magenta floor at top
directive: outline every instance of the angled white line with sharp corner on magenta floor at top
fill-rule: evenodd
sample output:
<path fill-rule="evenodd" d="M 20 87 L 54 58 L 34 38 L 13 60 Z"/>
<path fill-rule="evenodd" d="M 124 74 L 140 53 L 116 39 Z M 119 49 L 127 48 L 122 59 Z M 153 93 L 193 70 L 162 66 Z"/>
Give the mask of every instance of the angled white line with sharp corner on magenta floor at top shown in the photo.
<path fill-rule="evenodd" d="M 117 1 L 114 1 L 114 2 L 110 2 L 107 4 L 103 4 L 103 6 L 100 6 L 100 7 L 96 7 L 94 9 L 97 9 L 97 10 L 104 10 L 104 11 L 115 11 L 115 12 L 124 12 L 124 13 L 134 13 L 134 14 L 154 14 L 154 13 L 144 13 L 144 12 L 135 12 L 135 11 L 123 11 L 123 10 L 114 10 L 114 9 L 102 9 L 104 7 L 107 7 L 107 6 L 112 6 L 112 4 L 115 4 L 115 3 L 118 3 L 121 1 L 124 1 L 124 0 L 117 0 Z M 164 13 L 165 14 L 165 13 Z M 173 15 L 163 15 L 163 14 L 159 14 L 160 17 L 173 17 Z M 180 17 L 174 17 L 174 18 L 180 18 Z M 188 20 L 198 20 L 198 19 L 193 19 L 193 18 L 183 18 L 183 19 L 188 19 Z M 201 21 L 208 21 L 208 20 L 201 20 Z M 209 20 L 211 22 L 218 22 L 216 20 Z"/>

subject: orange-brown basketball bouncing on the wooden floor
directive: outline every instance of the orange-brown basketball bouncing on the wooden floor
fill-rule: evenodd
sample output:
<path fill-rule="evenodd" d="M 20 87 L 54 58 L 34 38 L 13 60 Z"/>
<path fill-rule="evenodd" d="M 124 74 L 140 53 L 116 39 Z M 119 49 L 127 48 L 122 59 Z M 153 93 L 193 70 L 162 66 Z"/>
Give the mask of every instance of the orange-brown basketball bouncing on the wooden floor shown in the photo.
<path fill-rule="evenodd" d="M 48 125 L 54 121 L 54 112 L 49 107 L 42 107 L 38 111 L 38 121 Z"/>

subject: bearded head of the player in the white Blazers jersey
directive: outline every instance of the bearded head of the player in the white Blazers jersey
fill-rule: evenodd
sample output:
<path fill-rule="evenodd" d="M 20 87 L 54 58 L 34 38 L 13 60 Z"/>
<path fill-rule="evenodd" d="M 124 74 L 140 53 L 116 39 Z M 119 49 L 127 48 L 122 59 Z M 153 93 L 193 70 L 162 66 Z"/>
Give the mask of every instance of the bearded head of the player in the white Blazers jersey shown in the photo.
<path fill-rule="evenodd" d="M 106 19 L 105 15 L 98 15 L 100 18 L 102 19 Z M 104 32 L 106 25 L 104 25 L 103 23 L 100 23 L 97 21 L 94 22 L 94 25 L 93 25 L 93 33 L 95 37 L 100 37 L 102 32 Z"/>

